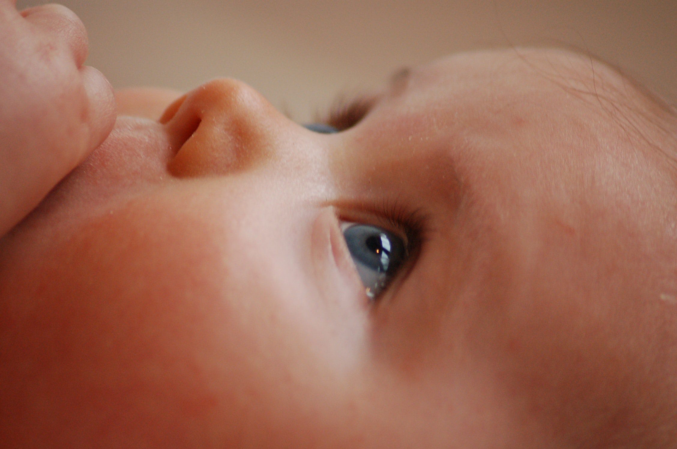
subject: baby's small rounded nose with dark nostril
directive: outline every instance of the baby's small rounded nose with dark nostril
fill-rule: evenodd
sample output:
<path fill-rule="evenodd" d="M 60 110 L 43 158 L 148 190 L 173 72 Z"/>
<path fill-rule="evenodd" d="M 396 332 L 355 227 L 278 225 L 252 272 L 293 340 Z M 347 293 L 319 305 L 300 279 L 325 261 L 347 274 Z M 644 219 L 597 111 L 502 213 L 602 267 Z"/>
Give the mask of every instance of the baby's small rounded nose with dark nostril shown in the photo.
<path fill-rule="evenodd" d="M 288 119 L 261 94 L 233 79 L 209 81 L 174 102 L 160 119 L 177 152 L 180 177 L 225 175 L 274 156 Z"/>

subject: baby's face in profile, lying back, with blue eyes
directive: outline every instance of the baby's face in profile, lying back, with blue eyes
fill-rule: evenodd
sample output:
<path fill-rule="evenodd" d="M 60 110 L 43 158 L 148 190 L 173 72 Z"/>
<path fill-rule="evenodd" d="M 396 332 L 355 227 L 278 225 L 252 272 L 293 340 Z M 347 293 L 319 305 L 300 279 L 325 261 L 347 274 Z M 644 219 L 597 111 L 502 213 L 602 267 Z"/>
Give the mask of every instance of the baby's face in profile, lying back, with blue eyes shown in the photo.
<path fill-rule="evenodd" d="M 674 181 L 660 136 L 611 100 L 651 104 L 597 62 L 520 55 L 402 72 L 341 133 L 236 81 L 163 123 L 121 116 L 0 240 L 2 431 L 158 447 L 676 437 Z"/>

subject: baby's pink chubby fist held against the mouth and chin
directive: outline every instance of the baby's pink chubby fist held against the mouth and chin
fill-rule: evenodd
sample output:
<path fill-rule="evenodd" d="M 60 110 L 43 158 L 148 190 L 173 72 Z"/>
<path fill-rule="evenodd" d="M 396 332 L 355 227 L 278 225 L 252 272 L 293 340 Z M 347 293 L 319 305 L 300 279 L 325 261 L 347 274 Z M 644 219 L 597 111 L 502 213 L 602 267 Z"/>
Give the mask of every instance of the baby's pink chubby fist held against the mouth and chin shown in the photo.
<path fill-rule="evenodd" d="M 110 133 L 112 87 L 60 5 L 0 0 L 0 238 Z"/>

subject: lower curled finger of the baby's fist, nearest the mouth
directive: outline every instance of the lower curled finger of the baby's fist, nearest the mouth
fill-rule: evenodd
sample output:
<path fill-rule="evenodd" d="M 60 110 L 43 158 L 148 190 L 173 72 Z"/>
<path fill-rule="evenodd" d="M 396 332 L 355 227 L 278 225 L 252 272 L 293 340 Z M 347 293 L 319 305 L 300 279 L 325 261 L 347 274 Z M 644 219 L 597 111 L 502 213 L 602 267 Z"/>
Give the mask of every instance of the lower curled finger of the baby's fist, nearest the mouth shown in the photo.
<path fill-rule="evenodd" d="M 89 154 L 106 140 L 113 129 L 116 116 L 115 95 L 108 79 L 99 70 L 84 66 L 80 73 L 89 100 L 87 116 L 89 123 L 87 154 Z"/>

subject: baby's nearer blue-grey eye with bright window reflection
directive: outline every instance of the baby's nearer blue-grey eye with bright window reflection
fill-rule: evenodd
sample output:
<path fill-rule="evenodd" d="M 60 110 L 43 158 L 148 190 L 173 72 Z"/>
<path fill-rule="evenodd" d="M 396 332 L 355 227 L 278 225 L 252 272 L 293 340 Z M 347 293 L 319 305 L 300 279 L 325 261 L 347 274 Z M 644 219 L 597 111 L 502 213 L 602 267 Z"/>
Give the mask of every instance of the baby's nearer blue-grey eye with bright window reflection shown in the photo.
<path fill-rule="evenodd" d="M 346 222 L 341 230 L 367 296 L 376 299 L 406 260 L 406 242 L 377 226 Z"/>

